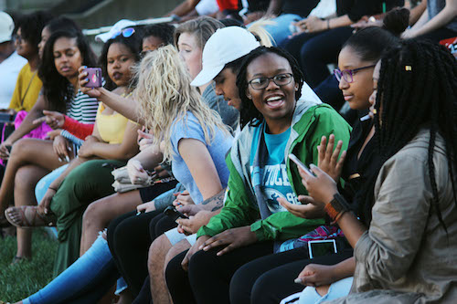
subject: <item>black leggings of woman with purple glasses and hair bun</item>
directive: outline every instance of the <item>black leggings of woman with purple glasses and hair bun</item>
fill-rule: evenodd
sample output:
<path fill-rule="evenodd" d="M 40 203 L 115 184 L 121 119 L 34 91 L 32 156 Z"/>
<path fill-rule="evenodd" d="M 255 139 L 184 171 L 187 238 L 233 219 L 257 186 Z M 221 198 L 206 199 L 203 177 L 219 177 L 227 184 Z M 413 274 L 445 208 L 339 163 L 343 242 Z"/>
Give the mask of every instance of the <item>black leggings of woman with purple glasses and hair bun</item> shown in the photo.
<path fill-rule="evenodd" d="M 303 290 L 303 285 L 293 283 L 308 264 L 335 265 L 348 257 L 353 250 L 313 259 L 308 249 L 298 248 L 282 253 L 260 257 L 239 267 L 230 281 L 230 303 L 266 304 L 279 303 L 293 293 Z"/>

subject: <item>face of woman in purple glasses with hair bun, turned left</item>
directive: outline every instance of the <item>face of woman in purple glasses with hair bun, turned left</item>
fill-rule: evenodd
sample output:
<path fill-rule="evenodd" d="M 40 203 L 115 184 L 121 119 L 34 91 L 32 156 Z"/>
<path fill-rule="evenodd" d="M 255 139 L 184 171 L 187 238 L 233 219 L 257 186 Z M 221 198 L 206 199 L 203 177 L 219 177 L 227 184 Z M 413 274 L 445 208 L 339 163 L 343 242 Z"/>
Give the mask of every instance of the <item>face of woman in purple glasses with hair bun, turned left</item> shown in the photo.
<path fill-rule="evenodd" d="M 374 62 L 364 61 L 352 47 L 345 47 L 338 57 L 338 68 L 355 69 L 374 65 Z M 344 78 L 339 83 L 345 100 L 353 110 L 366 110 L 370 107 L 368 101 L 373 92 L 373 68 L 364 68 L 353 73 L 354 81 L 349 83 Z"/>

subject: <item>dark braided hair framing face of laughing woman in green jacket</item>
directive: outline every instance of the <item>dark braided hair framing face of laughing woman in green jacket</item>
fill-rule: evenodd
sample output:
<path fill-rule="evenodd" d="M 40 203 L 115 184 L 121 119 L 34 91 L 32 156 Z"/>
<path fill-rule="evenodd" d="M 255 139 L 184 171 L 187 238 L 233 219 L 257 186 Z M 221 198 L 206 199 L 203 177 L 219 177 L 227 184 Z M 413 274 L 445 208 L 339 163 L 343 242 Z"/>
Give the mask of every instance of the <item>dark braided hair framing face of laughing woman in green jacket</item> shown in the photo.
<path fill-rule="evenodd" d="M 248 89 L 248 66 L 255 58 L 259 58 L 262 55 L 273 53 L 282 58 L 286 58 L 292 68 L 293 79 L 298 84 L 298 90 L 295 92 L 295 100 L 299 100 L 302 96 L 303 87 L 303 73 L 300 69 L 297 60 L 292 57 L 287 51 L 279 47 L 257 47 L 252 50 L 246 57 L 242 58 L 243 62 L 241 68 L 239 68 L 239 74 L 237 77 L 237 87 L 239 89 L 239 98 L 241 99 L 241 112 L 239 113 L 239 124 L 241 128 L 250 123 L 250 126 L 258 126 L 263 121 L 263 116 L 260 111 L 254 106 L 252 100 L 246 96 Z"/>

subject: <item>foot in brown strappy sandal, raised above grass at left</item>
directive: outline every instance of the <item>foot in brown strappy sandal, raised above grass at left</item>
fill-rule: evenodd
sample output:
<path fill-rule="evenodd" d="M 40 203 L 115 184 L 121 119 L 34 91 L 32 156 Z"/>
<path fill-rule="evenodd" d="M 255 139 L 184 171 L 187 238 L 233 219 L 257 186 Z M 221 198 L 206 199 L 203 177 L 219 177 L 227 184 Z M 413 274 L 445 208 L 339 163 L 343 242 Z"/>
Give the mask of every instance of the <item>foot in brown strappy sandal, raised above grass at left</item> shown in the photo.
<path fill-rule="evenodd" d="M 5 217 L 11 225 L 20 228 L 49 226 L 56 222 L 54 216 L 40 215 L 36 205 L 9 207 L 5 210 Z"/>

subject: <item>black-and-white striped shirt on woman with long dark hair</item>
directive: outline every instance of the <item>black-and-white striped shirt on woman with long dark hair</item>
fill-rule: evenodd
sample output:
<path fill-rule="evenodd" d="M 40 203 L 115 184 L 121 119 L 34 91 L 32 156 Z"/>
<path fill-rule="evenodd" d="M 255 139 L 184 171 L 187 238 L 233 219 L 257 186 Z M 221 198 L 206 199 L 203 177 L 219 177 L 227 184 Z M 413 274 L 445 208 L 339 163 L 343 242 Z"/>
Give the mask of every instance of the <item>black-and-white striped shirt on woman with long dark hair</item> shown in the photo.
<path fill-rule="evenodd" d="M 94 123 L 98 108 L 97 99 L 89 97 L 78 89 L 76 96 L 67 102 L 67 116 L 82 123 Z"/>

